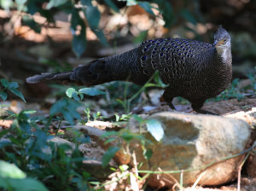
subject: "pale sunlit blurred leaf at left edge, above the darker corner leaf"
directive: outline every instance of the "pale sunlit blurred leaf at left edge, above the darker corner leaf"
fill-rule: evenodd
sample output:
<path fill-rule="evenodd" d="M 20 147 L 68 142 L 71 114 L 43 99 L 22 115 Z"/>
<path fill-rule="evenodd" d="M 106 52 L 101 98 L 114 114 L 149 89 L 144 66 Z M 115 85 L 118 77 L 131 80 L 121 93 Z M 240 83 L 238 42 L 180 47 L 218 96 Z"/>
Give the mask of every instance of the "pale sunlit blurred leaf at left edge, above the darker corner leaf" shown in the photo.
<path fill-rule="evenodd" d="M 8 162 L 0 160 L 0 177 L 25 178 L 26 173 L 20 171 L 16 165 L 11 165 Z"/>

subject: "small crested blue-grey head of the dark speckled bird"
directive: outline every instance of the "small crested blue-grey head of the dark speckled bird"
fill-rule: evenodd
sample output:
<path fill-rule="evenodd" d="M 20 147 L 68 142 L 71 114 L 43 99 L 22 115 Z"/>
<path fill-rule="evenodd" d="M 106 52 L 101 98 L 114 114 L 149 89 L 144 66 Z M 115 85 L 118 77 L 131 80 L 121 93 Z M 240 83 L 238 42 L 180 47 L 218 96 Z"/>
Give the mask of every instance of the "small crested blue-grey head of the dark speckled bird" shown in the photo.
<path fill-rule="evenodd" d="M 213 46 L 216 49 L 223 49 L 226 47 L 230 47 L 230 34 L 222 26 L 218 27 L 218 31 L 214 35 L 214 43 Z"/>

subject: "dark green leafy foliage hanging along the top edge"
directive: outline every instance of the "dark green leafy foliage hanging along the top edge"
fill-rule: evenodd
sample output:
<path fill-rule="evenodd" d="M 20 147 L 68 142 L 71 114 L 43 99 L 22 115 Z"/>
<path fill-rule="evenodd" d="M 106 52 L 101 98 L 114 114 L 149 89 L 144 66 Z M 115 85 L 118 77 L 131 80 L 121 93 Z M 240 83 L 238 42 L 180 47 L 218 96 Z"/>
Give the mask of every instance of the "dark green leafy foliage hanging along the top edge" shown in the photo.
<path fill-rule="evenodd" d="M 113 10 L 113 12 L 118 14 L 120 13 L 119 8 L 116 6 L 115 3 L 113 3 L 112 0 L 104 0 L 103 2 L 107 4 Z M 196 17 L 189 11 L 189 3 L 187 3 L 186 1 L 184 2 L 185 6 L 182 9 L 177 10 L 172 8 L 172 3 L 165 0 L 151 0 L 149 2 L 126 0 L 126 6 L 129 7 L 137 4 L 145 11 L 147 11 L 148 14 L 153 15 L 152 20 L 155 20 L 156 17 L 163 18 L 163 20 L 165 20 L 166 28 L 175 25 L 180 18 L 183 18 L 183 20 L 188 20 L 195 25 L 197 21 Z M 45 3 L 47 3 L 46 6 L 43 6 Z M 154 4 L 152 3 L 158 4 L 159 8 L 154 7 Z M 104 46 L 108 46 L 107 38 L 102 32 L 102 29 L 98 27 L 102 17 L 102 13 L 99 11 L 96 2 L 92 0 L 8 0 L 0 1 L 0 5 L 6 11 L 16 8 L 18 10 L 16 15 L 20 16 L 22 24 L 29 26 L 34 32 L 38 33 L 41 32 L 42 26 L 47 27 L 49 26 L 49 24 L 55 24 L 55 14 L 57 14 L 59 11 L 71 14 L 72 19 L 70 21 L 70 30 L 73 33 L 72 46 L 73 52 L 75 53 L 75 55 L 77 55 L 77 57 L 80 57 L 84 53 L 87 44 L 87 27 L 90 27 L 90 30 L 96 34 L 96 37 Z M 152 9 L 157 9 L 159 11 L 159 14 L 155 15 Z M 23 12 L 26 14 L 22 14 Z M 40 14 L 46 19 L 43 24 L 39 24 L 37 21 L 34 20 L 34 14 L 36 13 Z M 79 13 L 84 15 L 80 16 L 81 14 Z M 87 22 L 84 22 L 83 17 L 86 18 Z M 11 27 L 14 26 L 11 21 L 9 22 L 9 25 Z M 117 29 L 119 29 L 119 26 L 117 27 Z M 9 32 L 6 33 L 6 35 L 9 35 Z M 147 33 L 147 31 L 144 32 L 143 37 L 145 37 Z M 141 40 L 143 40 L 143 38 L 141 38 Z M 50 65 L 54 64 L 54 67 L 58 67 L 58 63 L 56 63 L 55 61 L 55 63 L 50 62 L 51 61 L 48 62 Z"/>

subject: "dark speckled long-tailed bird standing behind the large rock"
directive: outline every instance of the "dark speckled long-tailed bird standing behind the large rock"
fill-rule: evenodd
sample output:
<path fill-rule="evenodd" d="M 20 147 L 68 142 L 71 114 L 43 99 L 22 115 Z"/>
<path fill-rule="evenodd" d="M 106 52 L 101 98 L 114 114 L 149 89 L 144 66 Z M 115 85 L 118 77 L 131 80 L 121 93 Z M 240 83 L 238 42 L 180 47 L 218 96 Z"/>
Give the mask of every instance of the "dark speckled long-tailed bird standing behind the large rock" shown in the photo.
<path fill-rule="evenodd" d="M 212 114 L 201 109 L 209 98 L 218 96 L 230 84 L 232 55 L 230 34 L 222 26 L 214 34 L 214 43 L 188 38 L 156 38 L 141 43 L 138 48 L 119 55 L 91 61 L 70 72 L 46 73 L 26 78 L 27 83 L 57 80 L 64 84 L 87 87 L 112 81 L 129 80 L 143 86 L 159 71 L 165 88 L 163 98 L 173 110 L 174 97 L 191 103 L 196 113 Z"/>

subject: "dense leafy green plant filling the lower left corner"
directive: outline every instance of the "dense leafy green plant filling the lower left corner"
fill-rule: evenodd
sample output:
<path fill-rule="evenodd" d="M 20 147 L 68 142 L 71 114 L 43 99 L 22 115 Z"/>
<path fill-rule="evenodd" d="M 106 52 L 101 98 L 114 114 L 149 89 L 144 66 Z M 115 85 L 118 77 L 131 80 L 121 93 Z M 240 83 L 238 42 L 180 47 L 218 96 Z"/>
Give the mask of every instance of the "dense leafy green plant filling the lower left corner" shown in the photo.
<path fill-rule="evenodd" d="M 6 85 L 8 87 L 8 85 Z M 21 93 L 20 93 L 21 94 Z M 8 142 L 1 142 L 0 149 L 4 152 L 5 160 L 15 164 L 9 166 L 9 163 L 0 160 L 0 188 L 14 190 L 23 185 L 20 190 L 86 190 L 89 188 L 88 182 L 91 180 L 90 174 L 86 171 L 80 171 L 84 157 L 79 151 L 79 143 L 90 142 L 88 137 L 75 137 L 75 148 L 70 145 L 58 145 L 49 140 L 45 130 L 37 126 L 39 120 L 51 121 L 55 113 L 61 112 L 64 117 L 71 119 L 71 116 L 77 116 L 74 108 L 78 106 L 76 101 L 62 99 L 57 101 L 51 108 L 51 118 L 31 118 L 30 114 L 34 110 L 24 110 L 15 114 L 9 110 L 6 112 L 14 117 L 14 123 L 9 130 L 0 131 L 0 139 L 4 137 Z M 57 120 L 62 120 L 57 116 Z M 72 122 L 70 120 L 70 122 Z M 61 124 L 61 123 L 60 123 Z M 35 128 L 36 131 L 31 130 Z M 47 130 L 47 128 L 46 128 Z M 10 133 L 11 132 L 11 133 Z M 4 150 L 6 147 L 12 148 Z M 13 151 L 12 151 L 13 150 Z M 71 151 L 70 155 L 66 152 Z M 8 167 L 8 168 L 7 168 Z M 4 171 L 3 171 L 4 170 Z M 15 171 L 19 172 L 16 177 Z M 22 175 L 22 177 L 19 177 Z M 36 180 L 37 179 L 37 180 Z M 41 183 L 44 182 L 44 185 Z"/>

